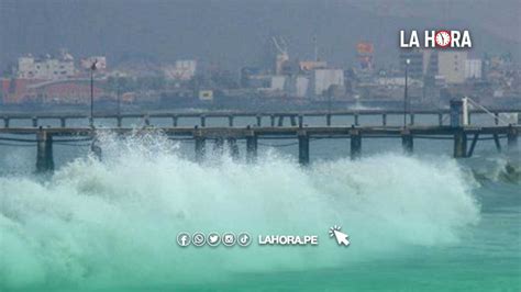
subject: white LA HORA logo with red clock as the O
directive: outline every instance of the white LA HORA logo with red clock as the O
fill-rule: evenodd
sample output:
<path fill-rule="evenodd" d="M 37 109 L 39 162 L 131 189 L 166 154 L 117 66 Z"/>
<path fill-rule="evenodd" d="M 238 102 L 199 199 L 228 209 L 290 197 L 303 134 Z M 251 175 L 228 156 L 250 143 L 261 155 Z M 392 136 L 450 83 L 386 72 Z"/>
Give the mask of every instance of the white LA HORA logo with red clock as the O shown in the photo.
<path fill-rule="evenodd" d="M 422 36 L 422 37 L 421 37 Z M 423 48 L 470 48 L 473 41 L 468 31 L 400 31 L 400 47 L 423 47 Z"/>

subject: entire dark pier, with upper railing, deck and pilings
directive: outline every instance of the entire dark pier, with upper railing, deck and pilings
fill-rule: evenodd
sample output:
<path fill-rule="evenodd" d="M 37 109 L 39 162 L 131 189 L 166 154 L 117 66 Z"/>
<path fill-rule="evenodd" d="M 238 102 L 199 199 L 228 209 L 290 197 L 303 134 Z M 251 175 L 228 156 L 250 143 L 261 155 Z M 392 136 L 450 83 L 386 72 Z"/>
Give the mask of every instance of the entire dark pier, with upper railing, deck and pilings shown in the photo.
<path fill-rule="evenodd" d="M 516 112 L 521 110 L 505 109 L 499 112 Z M 440 123 L 436 125 L 414 125 L 414 114 L 436 114 Z M 462 103 L 454 101 L 451 103 L 451 110 L 446 111 L 425 111 L 408 113 L 410 123 L 404 126 L 387 125 L 387 116 L 400 114 L 392 111 L 364 111 L 364 112 L 309 112 L 309 113 L 199 113 L 199 114 L 154 114 L 157 117 L 171 117 L 171 126 L 155 127 L 151 125 L 151 115 L 138 115 L 144 120 L 144 126 L 140 128 L 123 127 L 122 119 L 132 117 L 133 115 L 97 115 L 95 117 L 117 119 L 115 127 L 69 127 L 66 126 L 67 119 L 81 119 L 81 116 L 67 115 L 48 115 L 48 116 L 31 116 L 33 121 L 32 127 L 12 127 L 9 124 L 13 119 L 27 119 L 27 116 L 10 115 L 4 116 L 4 127 L 0 127 L 0 141 L 14 142 L 34 142 L 36 145 L 36 170 L 38 172 L 51 171 L 54 169 L 53 143 L 89 141 L 92 144 L 92 150 L 101 156 L 102 149 L 96 144 L 96 137 L 101 132 L 112 132 L 118 135 L 130 135 L 137 133 L 149 133 L 159 131 L 173 139 L 191 139 L 195 142 L 196 159 L 202 160 L 207 149 L 208 142 L 214 143 L 214 148 L 222 148 L 226 143 L 232 155 L 237 155 L 240 149 L 237 141 L 245 142 L 245 151 L 247 161 L 255 161 L 257 157 L 257 147 L 259 139 L 285 138 L 295 139 L 298 143 L 298 159 L 301 165 L 310 162 L 310 139 L 314 138 L 345 138 L 345 146 L 350 147 L 351 158 L 357 159 L 363 155 L 363 145 L 365 138 L 386 137 L 401 139 L 404 153 L 414 150 L 414 139 L 432 138 L 432 139 L 452 139 L 454 144 L 453 156 L 455 158 L 470 157 L 474 154 L 476 144 L 480 139 L 494 139 L 498 150 L 501 150 L 500 138 L 507 138 L 507 147 L 509 149 L 517 148 L 518 136 L 521 125 L 509 124 L 499 125 L 499 117 L 496 114 L 496 125 L 475 126 L 464 124 Z M 470 112 L 472 113 L 472 112 Z M 381 115 L 381 125 L 379 126 L 361 126 L 357 116 L 361 114 Z M 403 114 L 403 112 L 401 112 Z M 191 116 L 200 119 L 200 124 L 191 127 L 178 126 L 179 116 Z M 331 120 L 333 115 L 353 115 L 355 123 L 352 125 L 333 126 Z M 443 116 L 450 117 L 450 123 L 443 124 Z M 207 126 L 206 119 L 208 116 L 228 116 L 228 126 Z M 256 124 L 244 127 L 234 126 L 234 117 L 236 116 L 255 116 Z M 269 124 L 263 125 L 263 117 L 269 117 Z M 308 126 L 303 123 L 304 116 L 323 116 L 326 121 L 324 126 Z M 88 116 L 85 116 L 88 119 Z M 42 127 L 38 125 L 38 119 L 58 119 L 60 126 Z M 290 125 L 285 126 L 284 120 L 288 119 Z M 31 135 L 35 139 L 20 138 L 20 136 Z M 350 142 L 347 142 L 350 141 Z"/>

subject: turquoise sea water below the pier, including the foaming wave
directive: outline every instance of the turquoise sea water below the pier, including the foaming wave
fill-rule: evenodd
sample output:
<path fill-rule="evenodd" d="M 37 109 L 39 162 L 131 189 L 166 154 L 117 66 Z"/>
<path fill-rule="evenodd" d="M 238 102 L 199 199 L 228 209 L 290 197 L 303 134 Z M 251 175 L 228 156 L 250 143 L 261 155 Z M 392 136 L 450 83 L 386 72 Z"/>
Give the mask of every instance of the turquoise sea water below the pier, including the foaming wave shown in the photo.
<path fill-rule="evenodd" d="M 266 142 L 277 145 L 287 142 Z M 520 291 L 519 151 L 450 157 L 448 142 L 262 146 L 256 165 L 160 135 L 55 148 L 57 171 L 32 173 L 34 149 L 0 154 L 1 291 Z M 211 145 L 210 145 L 211 146 Z M 244 145 L 241 145 L 244 147 Z M 243 148 L 241 148 L 243 150 Z M 510 165 L 513 170 L 506 171 Z M 328 229 L 342 225 L 351 246 Z M 187 232 L 317 234 L 317 247 L 188 247 Z"/>

